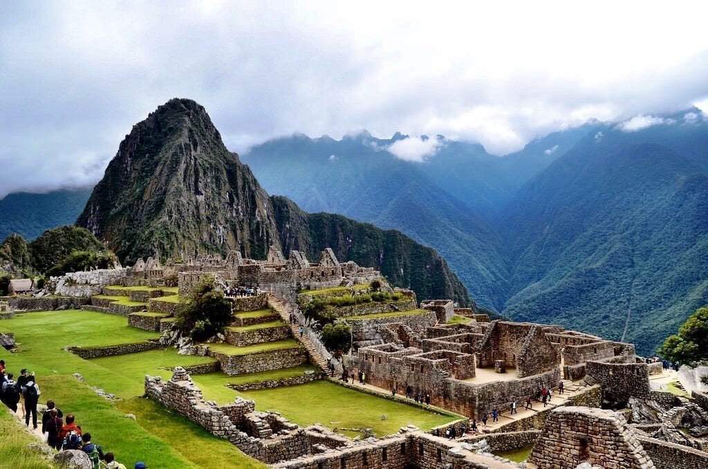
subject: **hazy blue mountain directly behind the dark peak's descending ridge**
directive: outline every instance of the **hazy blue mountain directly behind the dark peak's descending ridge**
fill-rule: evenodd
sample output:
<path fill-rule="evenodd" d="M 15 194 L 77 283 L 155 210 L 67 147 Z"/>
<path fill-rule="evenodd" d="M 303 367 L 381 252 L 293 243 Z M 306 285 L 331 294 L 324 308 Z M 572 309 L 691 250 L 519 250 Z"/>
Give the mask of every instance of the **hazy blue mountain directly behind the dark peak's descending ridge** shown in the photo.
<path fill-rule="evenodd" d="M 472 206 L 428 178 L 429 166 L 382 151 L 403 138 L 295 135 L 251 149 L 244 161 L 266 189 L 306 210 L 342 213 L 435 246 L 476 302 L 501 310 L 508 266 L 500 239 Z"/>

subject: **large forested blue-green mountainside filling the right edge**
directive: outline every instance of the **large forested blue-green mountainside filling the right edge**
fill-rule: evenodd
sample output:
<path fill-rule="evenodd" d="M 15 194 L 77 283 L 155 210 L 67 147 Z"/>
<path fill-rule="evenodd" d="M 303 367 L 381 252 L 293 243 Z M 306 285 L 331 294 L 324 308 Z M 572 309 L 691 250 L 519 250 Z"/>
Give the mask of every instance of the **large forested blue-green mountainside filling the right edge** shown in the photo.
<path fill-rule="evenodd" d="M 708 303 L 708 128 L 605 126 L 518 193 L 503 310 L 652 353 Z"/>

